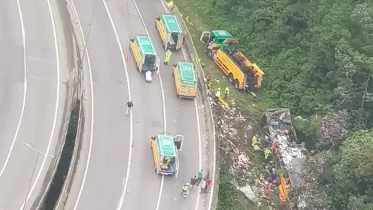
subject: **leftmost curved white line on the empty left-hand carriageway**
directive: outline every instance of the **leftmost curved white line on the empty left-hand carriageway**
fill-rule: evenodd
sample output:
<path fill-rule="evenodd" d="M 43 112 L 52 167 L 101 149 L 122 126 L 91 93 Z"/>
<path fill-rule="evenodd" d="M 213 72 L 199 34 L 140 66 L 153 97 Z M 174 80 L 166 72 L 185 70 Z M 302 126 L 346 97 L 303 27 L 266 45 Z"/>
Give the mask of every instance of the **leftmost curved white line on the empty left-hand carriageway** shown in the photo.
<path fill-rule="evenodd" d="M 24 79 L 24 81 L 23 81 L 23 101 L 22 101 L 21 114 L 19 115 L 19 121 L 18 121 L 17 129 L 16 129 L 16 133 L 13 136 L 12 144 L 11 144 L 11 146 L 9 148 L 8 154 L 6 155 L 6 159 L 5 159 L 4 165 L 1 168 L 0 178 L 1 178 L 2 174 L 5 171 L 6 165 L 8 164 L 10 155 L 12 154 L 14 145 L 16 143 L 16 139 L 18 137 L 19 128 L 21 126 L 21 122 L 22 122 L 22 119 L 23 119 L 23 113 L 24 113 L 24 110 L 25 110 L 26 95 L 27 95 L 26 36 L 25 36 L 25 28 L 24 28 L 24 24 L 23 24 L 23 17 L 22 17 L 21 5 L 19 3 L 19 0 L 17 0 L 17 6 L 18 6 L 19 19 L 20 19 L 20 23 L 21 23 L 22 43 L 23 43 L 23 66 L 24 66 L 24 73 L 23 73 L 23 79 Z"/>

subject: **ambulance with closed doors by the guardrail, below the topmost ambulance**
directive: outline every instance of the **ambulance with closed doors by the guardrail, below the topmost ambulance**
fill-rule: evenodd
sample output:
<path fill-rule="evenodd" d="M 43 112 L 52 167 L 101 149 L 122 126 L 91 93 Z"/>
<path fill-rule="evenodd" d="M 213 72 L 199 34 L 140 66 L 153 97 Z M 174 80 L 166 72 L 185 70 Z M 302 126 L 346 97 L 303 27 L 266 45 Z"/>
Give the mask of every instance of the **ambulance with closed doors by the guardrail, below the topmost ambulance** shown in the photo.
<path fill-rule="evenodd" d="M 179 97 L 197 97 L 197 73 L 191 62 L 183 61 L 173 65 L 176 94 Z"/>

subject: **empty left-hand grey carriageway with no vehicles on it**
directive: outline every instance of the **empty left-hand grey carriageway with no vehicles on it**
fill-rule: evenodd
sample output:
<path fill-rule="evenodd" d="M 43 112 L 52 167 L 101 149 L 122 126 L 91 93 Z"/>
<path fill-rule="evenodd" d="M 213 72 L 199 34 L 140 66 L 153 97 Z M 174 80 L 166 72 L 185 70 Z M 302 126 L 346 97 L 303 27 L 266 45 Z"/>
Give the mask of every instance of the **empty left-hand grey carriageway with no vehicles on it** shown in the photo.
<path fill-rule="evenodd" d="M 18 210 L 25 201 L 25 209 L 30 209 L 54 159 L 65 103 L 65 88 L 58 79 L 67 78 L 66 68 L 57 67 L 66 66 L 67 61 L 66 55 L 61 54 L 57 62 L 56 49 L 65 43 L 60 22 L 53 27 L 50 11 L 58 21 L 58 9 L 54 6 L 50 10 L 47 0 L 0 1 L 3 210 Z"/>

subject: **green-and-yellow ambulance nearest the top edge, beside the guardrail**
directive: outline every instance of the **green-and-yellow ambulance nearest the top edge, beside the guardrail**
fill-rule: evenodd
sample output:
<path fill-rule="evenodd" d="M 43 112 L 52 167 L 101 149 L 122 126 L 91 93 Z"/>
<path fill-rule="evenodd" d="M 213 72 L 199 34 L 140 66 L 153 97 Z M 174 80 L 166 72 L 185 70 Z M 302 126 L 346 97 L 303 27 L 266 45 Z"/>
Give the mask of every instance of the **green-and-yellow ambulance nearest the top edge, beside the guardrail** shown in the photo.
<path fill-rule="evenodd" d="M 165 50 L 179 50 L 182 47 L 183 31 L 175 15 L 161 15 L 155 19 L 155 27 Z"/>

